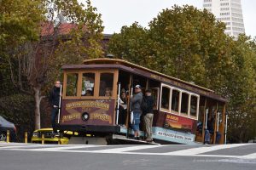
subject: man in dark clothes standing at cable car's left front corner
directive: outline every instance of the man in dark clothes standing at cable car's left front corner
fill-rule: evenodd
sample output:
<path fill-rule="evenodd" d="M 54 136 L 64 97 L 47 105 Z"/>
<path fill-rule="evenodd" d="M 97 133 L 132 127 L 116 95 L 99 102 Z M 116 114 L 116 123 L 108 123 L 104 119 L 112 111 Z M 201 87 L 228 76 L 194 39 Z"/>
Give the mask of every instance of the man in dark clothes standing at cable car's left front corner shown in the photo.
<path fill-rule="evenodd" d="M 50 121 L 51 121 L 51 126 L 54 130 L 54 133 L 57 133 L 55 118 L 58 115 L 58 111 L 59 111 L 60 93 L 61 93 L 61 82 L 56 81 L 55 87 L 50 91 L 50 94 L 49 94 L 49 103 L 53 107 L 51 111 Z"/>

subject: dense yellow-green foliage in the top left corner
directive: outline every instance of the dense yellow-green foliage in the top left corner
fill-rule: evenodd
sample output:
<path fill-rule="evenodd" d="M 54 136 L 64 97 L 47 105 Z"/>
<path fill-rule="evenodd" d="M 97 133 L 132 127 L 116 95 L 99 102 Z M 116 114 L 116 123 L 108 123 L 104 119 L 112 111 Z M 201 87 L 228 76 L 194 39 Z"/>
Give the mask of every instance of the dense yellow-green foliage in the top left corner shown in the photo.
<path fill-rule="evenodd" d="M 0 1 L 0 44 L 19 44 L 38 39 L 38 24 L 44 20 L 40 0 Z"/>

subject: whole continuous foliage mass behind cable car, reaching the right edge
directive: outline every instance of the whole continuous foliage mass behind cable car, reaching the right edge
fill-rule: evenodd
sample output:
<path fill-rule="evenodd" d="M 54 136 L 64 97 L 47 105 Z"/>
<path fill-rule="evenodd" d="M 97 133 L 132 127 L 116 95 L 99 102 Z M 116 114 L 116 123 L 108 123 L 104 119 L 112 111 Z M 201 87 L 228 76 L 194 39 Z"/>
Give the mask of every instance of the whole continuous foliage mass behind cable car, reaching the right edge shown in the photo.
<path fill-rule="evenodd" d="M 229 99 L 230 141 L 255 137 L 255 40 L 226 36 L 224 23 L 192 6 L 166 8 L 148 27 L 123 26 L 110 40 L 109 52 L 213 89 Z"/>

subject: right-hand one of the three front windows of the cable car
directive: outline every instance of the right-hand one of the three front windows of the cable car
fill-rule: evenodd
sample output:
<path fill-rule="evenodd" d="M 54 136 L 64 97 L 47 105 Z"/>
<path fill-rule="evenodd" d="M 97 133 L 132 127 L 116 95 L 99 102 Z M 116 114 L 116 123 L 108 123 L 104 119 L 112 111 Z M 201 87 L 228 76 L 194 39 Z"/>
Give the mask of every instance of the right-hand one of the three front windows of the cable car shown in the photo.
<path fill-rule="evenodd" d="M 113 95 L 113 73 L 101 73 L 100 96 Z"/>

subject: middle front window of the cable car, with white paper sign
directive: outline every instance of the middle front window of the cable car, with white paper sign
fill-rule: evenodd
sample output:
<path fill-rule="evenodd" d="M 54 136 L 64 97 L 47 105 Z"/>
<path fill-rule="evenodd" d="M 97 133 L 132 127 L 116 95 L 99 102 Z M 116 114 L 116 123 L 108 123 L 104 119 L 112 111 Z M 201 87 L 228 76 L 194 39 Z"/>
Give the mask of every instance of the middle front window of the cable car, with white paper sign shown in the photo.
<path fill-rule="evenodd" d="M 82 77 L 82 96 L 93 96 L 95 73 L 84 73 Z"/>

